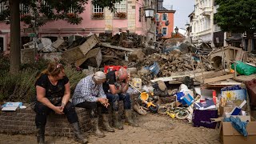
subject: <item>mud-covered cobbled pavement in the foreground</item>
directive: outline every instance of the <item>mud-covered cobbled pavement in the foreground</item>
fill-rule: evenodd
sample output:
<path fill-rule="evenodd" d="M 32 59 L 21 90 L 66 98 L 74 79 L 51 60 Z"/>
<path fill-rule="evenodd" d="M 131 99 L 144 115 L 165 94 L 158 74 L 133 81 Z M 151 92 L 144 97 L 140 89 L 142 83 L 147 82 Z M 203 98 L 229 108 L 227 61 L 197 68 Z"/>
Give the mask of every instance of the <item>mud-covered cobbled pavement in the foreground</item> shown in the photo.
<path fill-rule="evenodd" d="M 193 127 L 182 120 L 174 120 L 158 114 L 139 116 L 140 127 L 124 126 L 124 130 L 107 133 L 105 138 L 97 138 L 89 134 L 89 142 L 93 144 L 218 144 L 218 130 L 204 127 Z M 78 143 L 73 138 L 46 137 L 51 144 Z M 37 143 L 34 135 L 7 135 L 0 134 L 1 144 L 30 144 Z"/>

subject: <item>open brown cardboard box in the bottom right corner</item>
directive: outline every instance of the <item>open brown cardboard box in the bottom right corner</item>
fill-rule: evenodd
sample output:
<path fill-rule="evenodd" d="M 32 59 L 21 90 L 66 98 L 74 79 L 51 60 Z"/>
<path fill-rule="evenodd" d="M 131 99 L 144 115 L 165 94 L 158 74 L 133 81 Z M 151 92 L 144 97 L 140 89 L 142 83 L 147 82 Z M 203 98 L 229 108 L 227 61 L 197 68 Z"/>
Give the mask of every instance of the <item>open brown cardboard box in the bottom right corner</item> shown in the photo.
<path fill-rule="evenodd" d="M 222 144 L 255 144 L 256 122 L 248 122 L 246 126 L 248 136 L 244 137 L 234 129 L 231 122 L 222 122 L 220 138 Z"/>

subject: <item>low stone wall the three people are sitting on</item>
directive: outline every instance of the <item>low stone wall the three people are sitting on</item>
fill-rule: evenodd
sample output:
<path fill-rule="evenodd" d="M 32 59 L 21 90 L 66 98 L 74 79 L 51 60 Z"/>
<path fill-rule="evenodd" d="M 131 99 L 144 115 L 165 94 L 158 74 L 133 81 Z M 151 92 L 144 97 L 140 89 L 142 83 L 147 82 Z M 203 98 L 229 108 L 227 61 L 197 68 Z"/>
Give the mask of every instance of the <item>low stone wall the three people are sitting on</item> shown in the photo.
<path fill-rule="evenodd" d="M 90 117 L 87 110 L 76 107 L 82 131 L 90 130 Z M 35 113 L 30 106 L 16 111 L 0 111 L 0 133 L 3 134 L 36 134 Z M 47 117 L 46 135 L 72 137 L 73 128 L 65 114 L 50 114 Z"/>

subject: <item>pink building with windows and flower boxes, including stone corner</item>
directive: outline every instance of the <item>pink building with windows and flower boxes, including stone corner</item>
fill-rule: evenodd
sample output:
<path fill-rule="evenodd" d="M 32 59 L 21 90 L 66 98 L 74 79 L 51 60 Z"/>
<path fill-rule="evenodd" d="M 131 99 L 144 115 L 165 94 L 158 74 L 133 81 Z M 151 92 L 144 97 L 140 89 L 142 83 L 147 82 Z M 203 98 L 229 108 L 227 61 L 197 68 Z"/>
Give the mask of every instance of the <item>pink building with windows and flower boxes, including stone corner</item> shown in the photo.
<path fill-rule="evenodd" d="M 44 2 L 43 0 L 40 2 Z M 151 26 L 151 19 L 145 18 L 145 7 L 156 10 L 156 0 L 122 0 L 115 4 L 117 12 L 111 13 L 107 8 L 94 6 L 91 0 L 86 4 L 86 10 L 81 14 L 82 22 L 78 25 L 72 25 L 65 20 L 46 22 L 45 25 L 38 28 L 38 38 L 46 37 L 57 39 L 72 34 L 87 35 L 90 33 L 112 33 L 117 34 L 120 31 L 129 30 L 130 33 L 141 34 L 148 39 L 155 39 L 155 26 Z M 6 8 L 5 3 L 0 4 L 0 12 Z M 26 9 L 20 6 L 21 9 Z M 29 12 L 29 11 L 28 11 Z M 72 10 L 70 10 L 72 14 Z M 152 30 L 153 29 L 153 30 Z M 30 42 L 30 35 L 34 29 L 29 29 L 21 22 L 21 45 Z M 10 43 L 10 25 L 6 22 L 0 22 L 0 50 L 6 50 Z"/>

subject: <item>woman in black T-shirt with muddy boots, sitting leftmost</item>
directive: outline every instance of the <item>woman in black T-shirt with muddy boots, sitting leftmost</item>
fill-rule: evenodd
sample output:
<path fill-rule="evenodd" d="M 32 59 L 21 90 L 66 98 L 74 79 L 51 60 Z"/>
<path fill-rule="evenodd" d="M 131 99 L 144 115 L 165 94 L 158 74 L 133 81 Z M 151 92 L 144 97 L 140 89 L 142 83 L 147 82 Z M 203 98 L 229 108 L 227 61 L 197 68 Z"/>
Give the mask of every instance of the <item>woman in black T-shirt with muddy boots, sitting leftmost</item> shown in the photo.
<path fill-rule="evenodd" d="M 38 143 L 45 143 L 45 126 L 47 114 L 54 110 L 56 114 L 66 114 L 66 118 L 74 128 L 76 140 L 86 143 L 81 134 L 78 115 L 70 100 L 70 82 L 62 64 L 51 62 L 46 70 L 39 74 L 36 82 L 37 101 L 35 124 L 37 126 Z"/>

